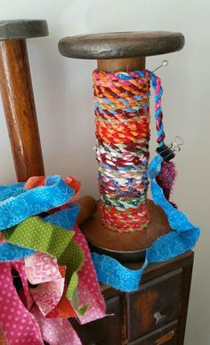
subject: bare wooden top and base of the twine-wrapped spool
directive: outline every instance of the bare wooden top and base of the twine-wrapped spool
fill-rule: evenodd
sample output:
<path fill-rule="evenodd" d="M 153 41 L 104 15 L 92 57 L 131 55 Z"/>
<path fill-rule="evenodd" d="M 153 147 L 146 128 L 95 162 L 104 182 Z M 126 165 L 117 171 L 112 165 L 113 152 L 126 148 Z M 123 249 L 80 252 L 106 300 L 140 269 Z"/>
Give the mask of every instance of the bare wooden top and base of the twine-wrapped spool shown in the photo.
<path fill-rule="evenodd" d="M 96 59 L 98 69 L 105 72 L 145 69 L 145 57 L 179 51 L 184 37 L 176 32 L 125 32 L 80 35 L 62 38 L 61 55 Z M 99 210 L 82 224 L 82 230 L 90 247 L 100 254 L 107 254 L 122 262 L 139 261 L 146 248 L 159 236 L 170 231 L 164 211 L 148 200 L 149 226 L 143 231 L 112 231 L 101 224 Z"/>

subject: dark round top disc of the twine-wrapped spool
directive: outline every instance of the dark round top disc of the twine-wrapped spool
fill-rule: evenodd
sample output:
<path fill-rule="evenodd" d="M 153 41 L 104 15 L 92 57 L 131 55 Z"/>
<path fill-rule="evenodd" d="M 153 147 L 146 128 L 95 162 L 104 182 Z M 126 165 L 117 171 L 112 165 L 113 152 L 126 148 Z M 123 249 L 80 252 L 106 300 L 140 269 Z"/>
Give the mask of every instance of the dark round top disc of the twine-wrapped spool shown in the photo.
<path fill-rule="evenodd" d="M 179 32 L 139 31 L 62 38 L 61 55 L 78 59 L 121 59 L 174 53 L 184 46 Z"/>

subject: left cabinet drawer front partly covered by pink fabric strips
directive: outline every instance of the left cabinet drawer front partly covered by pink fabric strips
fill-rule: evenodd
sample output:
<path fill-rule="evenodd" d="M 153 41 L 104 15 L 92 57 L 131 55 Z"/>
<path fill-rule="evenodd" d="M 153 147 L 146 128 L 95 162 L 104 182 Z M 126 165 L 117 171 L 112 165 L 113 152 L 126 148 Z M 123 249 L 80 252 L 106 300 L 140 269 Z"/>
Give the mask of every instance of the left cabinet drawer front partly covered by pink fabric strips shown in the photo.
<path fill-rule="evenodd" d="M 83 345 L 121 345 L 122 344 L 122 307 L 118 296 L 107 299 L 107 314 L 100 320 L 89 324 L 78 324 L 71 321 Z M 112 315 L 113 314 L 113 315 Z"/>

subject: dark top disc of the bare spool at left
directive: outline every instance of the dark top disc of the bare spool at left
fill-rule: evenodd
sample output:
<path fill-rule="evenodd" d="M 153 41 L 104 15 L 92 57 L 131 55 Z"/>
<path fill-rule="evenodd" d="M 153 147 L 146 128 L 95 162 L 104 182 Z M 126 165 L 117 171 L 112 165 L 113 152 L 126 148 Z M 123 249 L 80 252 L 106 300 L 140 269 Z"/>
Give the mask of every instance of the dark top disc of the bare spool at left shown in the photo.
<path fill-rule="evenodd" d="M 48 35 L 47 22 L 43 20 L 0 21 L 0 40 L 39 38 Z"/>

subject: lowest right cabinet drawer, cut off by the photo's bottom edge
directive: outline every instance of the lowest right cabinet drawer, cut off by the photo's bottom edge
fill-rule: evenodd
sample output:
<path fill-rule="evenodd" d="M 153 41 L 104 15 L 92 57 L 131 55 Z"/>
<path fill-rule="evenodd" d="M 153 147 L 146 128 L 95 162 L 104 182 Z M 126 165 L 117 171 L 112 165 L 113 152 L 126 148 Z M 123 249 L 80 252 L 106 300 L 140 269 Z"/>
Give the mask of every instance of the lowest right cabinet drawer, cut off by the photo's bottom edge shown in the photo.
<path fill-rule="evenodd" d="M 177 343 L 177 325 L 176 320 L 136 341 L 129 342 L 128 345 L 179 345 Z"/>

